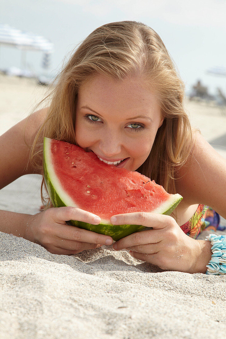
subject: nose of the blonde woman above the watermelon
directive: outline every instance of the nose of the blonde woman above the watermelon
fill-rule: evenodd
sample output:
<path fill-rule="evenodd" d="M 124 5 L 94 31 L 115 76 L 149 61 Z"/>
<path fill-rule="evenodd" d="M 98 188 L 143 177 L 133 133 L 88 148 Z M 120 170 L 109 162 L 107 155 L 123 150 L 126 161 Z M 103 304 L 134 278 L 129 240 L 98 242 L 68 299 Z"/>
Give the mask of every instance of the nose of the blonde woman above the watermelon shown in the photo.
<path fill-rule="evenodd" d="M 100 140 L 99 149 L 106 158 L 113 157 L 122 152 L 122 141 L 118 135 L 107 132 Z"/>

